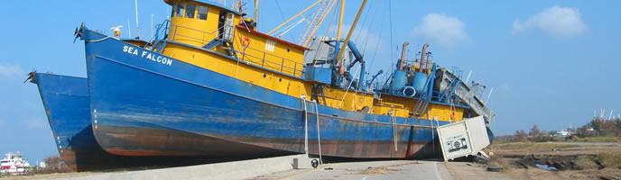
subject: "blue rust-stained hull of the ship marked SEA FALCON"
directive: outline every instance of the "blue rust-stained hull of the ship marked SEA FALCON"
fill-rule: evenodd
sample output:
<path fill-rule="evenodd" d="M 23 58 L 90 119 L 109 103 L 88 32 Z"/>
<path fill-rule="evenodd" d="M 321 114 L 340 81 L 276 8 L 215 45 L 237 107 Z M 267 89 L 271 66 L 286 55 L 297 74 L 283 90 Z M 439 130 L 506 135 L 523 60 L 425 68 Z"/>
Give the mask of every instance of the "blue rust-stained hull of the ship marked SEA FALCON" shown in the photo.
<path fill-rule="evenodd" d="M 386 115 L 323 105 L 315 109 L 313 103 L 304 108 L 299 98 L 96 31 L 80 33 L 86 46 L 94 135 L 112 154 L 268 157 L 303 153 L 305 113 L 310 154 L 412 158 L 439 153 L 433 148 L 432 121 L 391 121 Z M 135 51 L 128 53 L 129 48 Z"/>

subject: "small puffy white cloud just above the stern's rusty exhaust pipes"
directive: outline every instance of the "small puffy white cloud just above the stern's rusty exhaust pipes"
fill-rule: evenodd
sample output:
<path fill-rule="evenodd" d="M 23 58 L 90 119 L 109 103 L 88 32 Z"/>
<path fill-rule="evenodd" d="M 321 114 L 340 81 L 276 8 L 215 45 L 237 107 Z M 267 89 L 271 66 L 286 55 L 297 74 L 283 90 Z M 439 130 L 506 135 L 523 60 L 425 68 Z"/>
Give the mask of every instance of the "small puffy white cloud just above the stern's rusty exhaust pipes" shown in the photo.
<path fill-rule="evenodd" d="M 466 24 L 457 17 L 450 17 L 445 14 L 427 14 L 412 33 L 422 40 L 430 40 L 431 43 L 452 46 L 470 39 L 465 28 Z"/>

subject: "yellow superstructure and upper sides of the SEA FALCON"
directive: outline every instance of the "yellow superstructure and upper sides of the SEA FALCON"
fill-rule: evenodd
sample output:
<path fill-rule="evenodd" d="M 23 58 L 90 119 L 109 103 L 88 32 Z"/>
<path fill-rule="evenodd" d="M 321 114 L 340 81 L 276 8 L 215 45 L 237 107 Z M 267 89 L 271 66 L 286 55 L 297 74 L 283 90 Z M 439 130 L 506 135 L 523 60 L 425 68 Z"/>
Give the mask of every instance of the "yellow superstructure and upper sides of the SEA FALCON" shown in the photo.
<path fill-rule="evenodd" d="M 173 8 L 169 42 L 162 54 L 281 94 L 297 98 L 312 95 L 316 84 L 301 78 L 305 47 L 255 31 L 241 14 L 225 7 L 193 0 L 165 2 Z M 204 48 L 213 40 L 223 40 L 223 44 Z M 411 111 L 418 102 L 412 98 L 388 94 L 377 98 L 374 94 L 322 86 L 319 101 L 333 108 L 440 121 L 463 118 L 464 109 L 460 107 L 430 103 L 428 111 L 414 114 Z"/>

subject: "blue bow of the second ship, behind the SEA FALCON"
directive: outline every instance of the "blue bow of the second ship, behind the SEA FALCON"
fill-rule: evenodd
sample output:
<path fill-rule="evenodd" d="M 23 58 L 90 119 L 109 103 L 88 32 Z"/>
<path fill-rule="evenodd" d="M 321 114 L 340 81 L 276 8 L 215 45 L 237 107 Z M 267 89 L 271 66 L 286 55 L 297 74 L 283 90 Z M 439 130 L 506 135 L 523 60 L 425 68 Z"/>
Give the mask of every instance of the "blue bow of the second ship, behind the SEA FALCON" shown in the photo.
<path fill-rule="evenodd" d="M 39 94 L 60 157 L 74 170 L 96 168 L 107 155 L 92 135 L 86 78 L 31 74 Z"/>

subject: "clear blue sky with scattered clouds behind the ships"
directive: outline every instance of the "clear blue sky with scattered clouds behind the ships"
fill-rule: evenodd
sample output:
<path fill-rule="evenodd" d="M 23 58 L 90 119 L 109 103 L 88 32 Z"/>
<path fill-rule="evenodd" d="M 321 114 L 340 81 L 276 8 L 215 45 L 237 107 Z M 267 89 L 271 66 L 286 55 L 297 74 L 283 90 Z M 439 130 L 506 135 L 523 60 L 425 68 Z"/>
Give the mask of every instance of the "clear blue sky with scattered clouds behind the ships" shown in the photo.
<path fill-rule="evenodd" d="M 404 40 L 412 44 L 409 57 L 429 42 L 440 65 L 459 67 L 464 76 L 472 71 L 470 79 L 494 87 L 489 105 L 497 114 L 493 129 L 498 134 L 533 124 L 544 130 L 582 125 L 601 108 L 621 114 L 619 1 L 394 0 L 392 12 L 387 2 L 369 1 L 354 34 L 372 74 L 394 63 L 394 47 Z M 269 31 L 308 4 L 261 1 L 259 29 Z M 346 27 L 359 4 L 348 0 Z M 36 87 L 23 84 L 26 73 L 86 76 L 83 44 L 72 43 L 74 29 L 86 23 L 109 32 L 110 27 L 124 25 L 127 34 L 130 21 L 135 35 L 134 1 L 23 0 L 4 6 L 8 8 L 0 11 L 5 24 L 0 29 L 0 152 L 20 150 L 32 160 L 56 155 Z M 161 23 L 170 7 L 143 0 L 139 13 L 143 37 L 149 37 L 151 14 L 154 23 Z M 304 27 L 283 38 L 298 41 Z M 326 32 L 333 31 L 322 28 L 318 34 Z"/>

